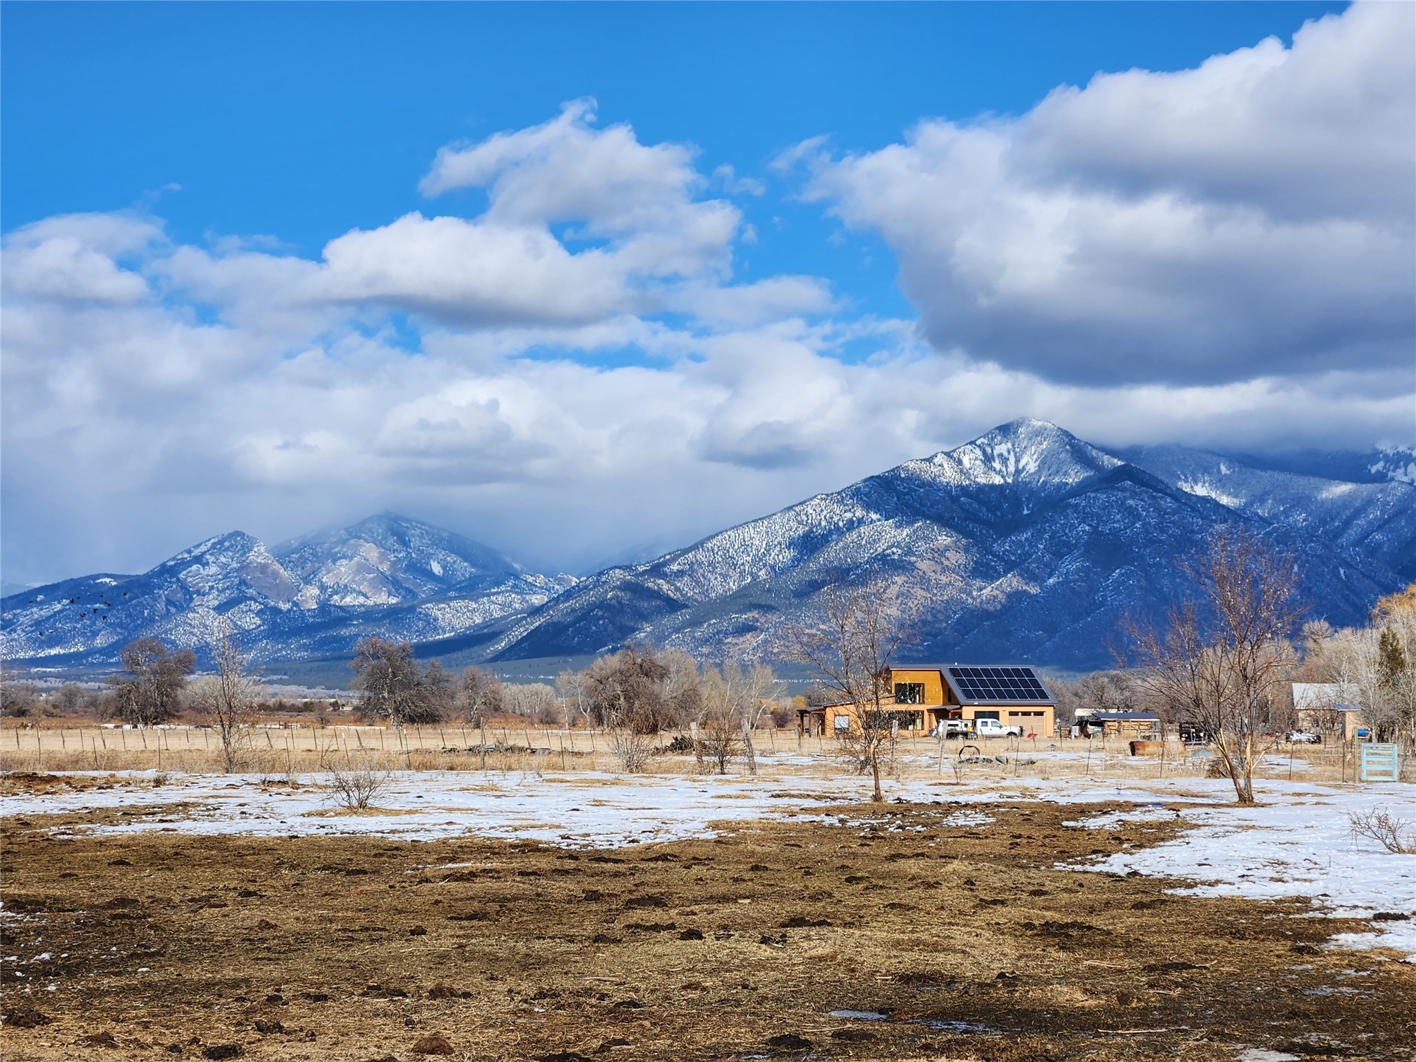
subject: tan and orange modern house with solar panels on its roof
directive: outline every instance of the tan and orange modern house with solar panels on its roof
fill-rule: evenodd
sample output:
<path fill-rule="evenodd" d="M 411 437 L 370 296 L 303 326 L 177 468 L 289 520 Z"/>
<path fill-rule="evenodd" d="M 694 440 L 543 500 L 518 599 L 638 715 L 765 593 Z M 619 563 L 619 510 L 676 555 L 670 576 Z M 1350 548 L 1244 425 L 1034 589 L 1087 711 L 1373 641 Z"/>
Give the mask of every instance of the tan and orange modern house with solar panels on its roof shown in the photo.
<path fill-rule="evenodd" d="M 1025 735 L 1054 736 L 1056 701 L 1028 664 L 902 664 L 891 668 L 881 709 L 902 738 L 927 738 L 946 719 L 997 719 Z M 797 712 L 801 733 L 831 735 L 858 726 L 850 702 Z"/>

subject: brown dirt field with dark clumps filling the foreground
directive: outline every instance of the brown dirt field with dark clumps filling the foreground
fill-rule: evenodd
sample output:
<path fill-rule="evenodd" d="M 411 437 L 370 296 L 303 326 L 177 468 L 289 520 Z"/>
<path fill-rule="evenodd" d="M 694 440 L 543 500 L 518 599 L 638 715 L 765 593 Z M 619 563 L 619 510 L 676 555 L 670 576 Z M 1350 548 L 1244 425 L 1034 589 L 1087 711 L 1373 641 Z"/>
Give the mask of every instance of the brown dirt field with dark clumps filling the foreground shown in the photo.
<path fill-rule="evenodd" d="M 1062 826 L 1110 807 L 847 806 L 612 852 L 8 820 L 4 1056 L 1416 1056 L 1416 966 L 1321 947 L 1362 923 L 1052 869 L 1168 835 Z"/>

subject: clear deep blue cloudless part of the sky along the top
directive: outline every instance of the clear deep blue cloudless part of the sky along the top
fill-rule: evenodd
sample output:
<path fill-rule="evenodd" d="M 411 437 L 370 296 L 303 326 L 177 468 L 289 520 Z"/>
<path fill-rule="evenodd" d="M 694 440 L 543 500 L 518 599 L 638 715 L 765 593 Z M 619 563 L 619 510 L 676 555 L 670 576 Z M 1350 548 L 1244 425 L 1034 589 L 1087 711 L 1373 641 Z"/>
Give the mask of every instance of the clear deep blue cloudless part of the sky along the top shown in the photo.
<path fill-rule="evenodd" d="M 745 273 L 826 272 L 906 314 L 889 253 L 831 242 L 767 170 L 782 150 L 820 135 L 875 150 L 920 118 L 1020 113 L 1097 71 L 1184 69 L 1344 7 L 6 4 L 0 212 L 10 229 L 150 202 L 181 241 L 266 234 L 316 255 L 422 207 L 449 140 L 592 96 L 603 123 L 772 185 Z"/>

